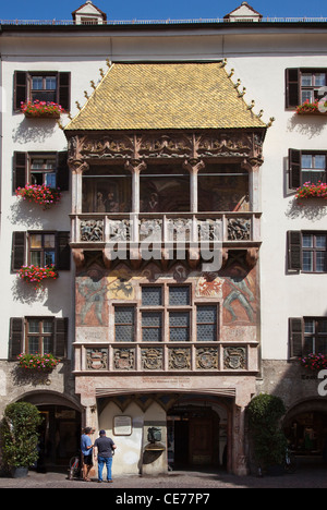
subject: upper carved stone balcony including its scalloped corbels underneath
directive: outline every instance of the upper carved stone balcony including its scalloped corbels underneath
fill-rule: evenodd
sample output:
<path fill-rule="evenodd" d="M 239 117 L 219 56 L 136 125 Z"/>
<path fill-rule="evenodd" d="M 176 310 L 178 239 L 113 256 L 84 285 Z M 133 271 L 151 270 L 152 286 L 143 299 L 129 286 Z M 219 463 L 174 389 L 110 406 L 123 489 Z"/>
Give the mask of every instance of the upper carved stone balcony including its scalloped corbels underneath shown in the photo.
<path fill-rule="evenodd" d="M 77 264 L 84 251 L 102 251 L 110 267 L 117 258 L 162 262 L 180 250 L 178 258 L 184 253 L 196 265 L 205 250 L 220 248 L 222 258 L 228 250 L 246 250 L 253 257 L 261 245 L 259 212 L 88 212 L 71 215 L 71 222 Z"/>

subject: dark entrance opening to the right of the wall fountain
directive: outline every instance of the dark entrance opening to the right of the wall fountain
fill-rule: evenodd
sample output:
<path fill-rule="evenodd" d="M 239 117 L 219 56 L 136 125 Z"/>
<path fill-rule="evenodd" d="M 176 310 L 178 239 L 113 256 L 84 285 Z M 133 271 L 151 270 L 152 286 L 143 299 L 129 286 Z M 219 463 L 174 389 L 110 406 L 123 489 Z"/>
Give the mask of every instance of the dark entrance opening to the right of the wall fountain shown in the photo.
<path fill-rule="evenodd" d="M 209 406 L 177 405 L 167 416 L 170 469 L 221 466 L 219 415 Z"/>

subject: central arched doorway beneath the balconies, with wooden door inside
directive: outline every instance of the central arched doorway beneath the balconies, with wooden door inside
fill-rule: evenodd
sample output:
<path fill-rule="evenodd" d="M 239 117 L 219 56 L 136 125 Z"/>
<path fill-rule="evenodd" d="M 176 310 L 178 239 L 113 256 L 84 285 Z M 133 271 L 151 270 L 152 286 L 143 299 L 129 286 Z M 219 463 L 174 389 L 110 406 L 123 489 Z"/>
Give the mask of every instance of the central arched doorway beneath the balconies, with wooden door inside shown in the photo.
<path fill-rule="evenodd" d="M 218 402 L 180 398 L 167 413 L 169 469 L 226 469 L 227 416 Z"/>

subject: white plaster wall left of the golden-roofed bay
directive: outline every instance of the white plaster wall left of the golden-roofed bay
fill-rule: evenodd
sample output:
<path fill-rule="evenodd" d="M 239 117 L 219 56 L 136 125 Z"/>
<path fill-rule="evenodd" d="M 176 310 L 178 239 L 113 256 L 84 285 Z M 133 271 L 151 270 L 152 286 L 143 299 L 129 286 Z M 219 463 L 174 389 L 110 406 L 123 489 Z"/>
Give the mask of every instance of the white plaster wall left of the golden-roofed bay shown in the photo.
<path fill-rule="evenodd" d="M 33 51 L 33 47 L 25 47 L 25 51 Z M 15 51 L 17 48 L 15 48 Z M 56 51 L 56 48 L 53 48 Z M 14 150 L 22 151 L 47 151 L 65 150 L 66 138 L 57 122 L 48 119 L 25 119 L 22 113 L 12 112 L 13 104 L 13 75 L 15 70 L 20 71 L 71 71 L 72 87 L 71 102 L 72 113 L 78 110 L 75 100 L 83 106 L 86 101 L 84 90 L 90 93 L 90 80 L 96 83 L 100 78 L 99 68 L 106 68 L 106 61 L 95 61 L 93 65 L 80 62 L 71 62 L 58 58 L 3 56 L 2 62 L 2 87 L 5 90 L 5 109 L 2 122 L 2 185 L 1 185 L 1 278 L 0 294 L 0 359 L 8 357 L 9 320 L 10 317 L 23 316 L 56 316 L 69 317 L 69 339 L 74 339 L 74 263 L 71 262 L 70 271 L 60 271 L 56 281 L 43 284 L 44 291 L 35 291 L 34 288 L 21 281 L 16 274 L 12 274 L 11 250 L 12 232 L 28 230 L 69 231 L 71 212 L 71 189 L 62 193 L 61 203 L 55 208 L 43 210 L 34 204 L 17 198 L 12 193 L 12 166 Z M 87 71 L 86 71 L 87 70 Z M 62 116 L 62 124 L 69 121 Z M 71 345 L 69 345 L 69 356 Z"/>

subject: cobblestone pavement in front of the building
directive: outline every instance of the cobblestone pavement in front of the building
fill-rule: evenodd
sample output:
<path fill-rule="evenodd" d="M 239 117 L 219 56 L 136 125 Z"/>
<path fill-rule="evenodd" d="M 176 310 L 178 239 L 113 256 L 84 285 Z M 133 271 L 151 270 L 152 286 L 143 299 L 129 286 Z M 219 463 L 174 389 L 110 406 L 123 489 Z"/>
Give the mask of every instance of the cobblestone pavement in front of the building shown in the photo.
<path fill-rule="evenodd" d="M 113 471 L 114 472 L 114 471 Z M 294 474 L 279 476 L 234 476 L 225 472 L 174 471 L 164 476 L 120 476 L 112 484 L 70 481 L 65 473 L 28 472 L 25 478 L 0 477 L 0 488 L 107 488 L 119 494 L 137 493 L 150 495 L 183 489 L 204 491 L 216 488 L 327 488 L 327 466 L 300 466 Z M 148 490 L 146 490 L 148 489 Z M 154 489 L 152 491 L 150 489 Z M 160 489 L 160 490 L 158 490 Z M 168 502 L 168 501 L 167 501 Z M 185 501 L 186 502 L 186 501 Z M 203 501 L 204 502 L 204 501 Z"/>

